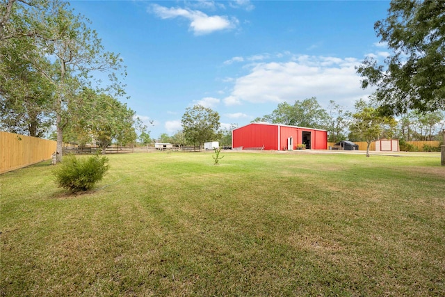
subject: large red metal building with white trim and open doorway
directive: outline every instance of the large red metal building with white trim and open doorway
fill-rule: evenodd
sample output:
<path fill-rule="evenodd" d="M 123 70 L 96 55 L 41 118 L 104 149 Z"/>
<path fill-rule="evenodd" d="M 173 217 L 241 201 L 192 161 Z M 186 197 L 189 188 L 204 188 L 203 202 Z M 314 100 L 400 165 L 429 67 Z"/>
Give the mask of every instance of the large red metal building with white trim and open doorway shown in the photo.
<path fill-rule="evenodd" d="M 232 147 L 243 150 L 327 150 L 327 131 L 279 124 L 252 122 L 232 131 Z"/>

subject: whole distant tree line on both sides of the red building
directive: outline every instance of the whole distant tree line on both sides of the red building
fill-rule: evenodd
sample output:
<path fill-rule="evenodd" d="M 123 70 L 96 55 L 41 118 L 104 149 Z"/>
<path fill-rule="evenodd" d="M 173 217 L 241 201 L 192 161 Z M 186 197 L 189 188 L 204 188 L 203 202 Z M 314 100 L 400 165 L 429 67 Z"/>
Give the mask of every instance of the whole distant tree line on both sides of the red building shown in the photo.
<path fill-rule="evenodd" d="M 252 120 L 270 124 L 291 125 L 327 130 L 327 141 L 364 141 L 369 145 L 382 138 L 398 138 L 402 141 L 441 140 L 445 127 L 445 113 L 434 111 L 421 113 L 411 111 L 396 119 L 393 115 L 382 113 L 378 102 L 363 99 L 355 102 L 354 111 L 348 111 L 334 101 L 327 109 L 318 103 L 316 97 L 296 100 L 293 104 L 282 102 L 268 115 Z M 195 105 L 186 109 L 181 120 L 182 128 L 169 136 L 161 134 L 157 141 L 179 146 L 203 145 L 207 141 L 219 141 L 220 146 L 232 145 L 232 130 L 238 127 L 220 129 L 220 115 L 212 109 Z M 143 138 L 140 138 L 144 141 Z M 152 140 L 145 138 L 145 143 Z"/>

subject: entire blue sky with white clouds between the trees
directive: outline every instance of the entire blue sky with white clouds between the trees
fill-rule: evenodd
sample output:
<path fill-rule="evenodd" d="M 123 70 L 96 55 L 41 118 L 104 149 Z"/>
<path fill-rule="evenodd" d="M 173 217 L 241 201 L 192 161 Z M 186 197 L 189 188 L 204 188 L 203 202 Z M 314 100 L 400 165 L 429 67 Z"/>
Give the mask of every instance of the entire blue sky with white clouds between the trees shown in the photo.
<path fill-rule="evenodd" d="M 389 1 L 70 1 L 127 65 L 122 99 L 150 136 L 175 134 L 187 107 L 222 127 L 316 97 L 353 110 L 366 99 L 354 67 L 387 55 L 373 24 Z"/>

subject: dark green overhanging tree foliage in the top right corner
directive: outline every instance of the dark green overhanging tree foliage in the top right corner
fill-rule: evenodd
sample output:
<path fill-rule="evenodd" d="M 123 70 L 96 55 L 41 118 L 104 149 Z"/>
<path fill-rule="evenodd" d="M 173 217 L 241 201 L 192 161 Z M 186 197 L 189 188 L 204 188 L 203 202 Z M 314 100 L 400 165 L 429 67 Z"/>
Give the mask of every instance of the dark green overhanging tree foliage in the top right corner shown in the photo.
<path fill-rule="evenodd" d="M 380 111 L 445 109 L 445 1 L 392 0 L 374 29 L 392 54 L 357 67 L 362 87 L 375 86 Z"/>

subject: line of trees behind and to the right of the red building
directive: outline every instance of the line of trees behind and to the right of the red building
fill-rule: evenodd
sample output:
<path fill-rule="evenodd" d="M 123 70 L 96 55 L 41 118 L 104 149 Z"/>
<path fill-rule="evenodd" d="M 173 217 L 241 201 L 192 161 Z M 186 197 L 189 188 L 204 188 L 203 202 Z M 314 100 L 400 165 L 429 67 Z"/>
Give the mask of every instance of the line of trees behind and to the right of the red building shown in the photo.
<path fill-rule="evenodd" d="M 357 127 L 359 122 L 366 118 L 365 112 L 369 113 L 369 121 L 380 123 L 377 138 L 402 138 L 405 141 L 440 140 L 440 132 L 445 127 L 443 111 L 410 111 L 396 120 L 392 115 L 382 114 L 375 99 L 369 102 L 359 99 L 355 102 L 355 110 L 348 111 L 332 100 L 327 109 L 323 109 L 315 97 L 296 100 L 293 104 L 280 103 L 272 113 L 255 118 L 252 122 L 325 129 L 329 142 L 366 141 L 366 136 L 360 133 L 363 129 Z"/>

